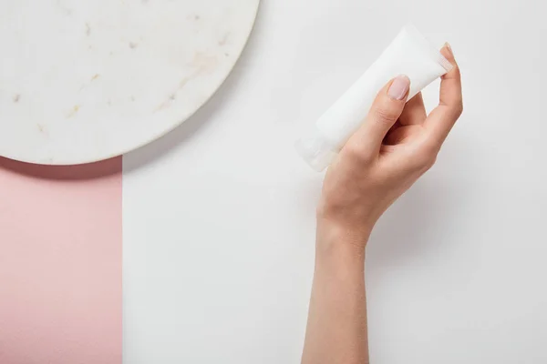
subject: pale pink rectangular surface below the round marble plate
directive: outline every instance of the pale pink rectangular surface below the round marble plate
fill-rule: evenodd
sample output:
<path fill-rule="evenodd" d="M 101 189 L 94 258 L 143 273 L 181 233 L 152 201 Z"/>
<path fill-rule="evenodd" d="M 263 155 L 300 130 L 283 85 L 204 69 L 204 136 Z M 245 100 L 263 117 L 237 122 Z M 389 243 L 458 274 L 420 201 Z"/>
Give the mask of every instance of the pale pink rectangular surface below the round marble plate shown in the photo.
<path fill-rule="evenodd" d="M 0 363 L 121 363 L 121 158 L 0 158 Z"/>

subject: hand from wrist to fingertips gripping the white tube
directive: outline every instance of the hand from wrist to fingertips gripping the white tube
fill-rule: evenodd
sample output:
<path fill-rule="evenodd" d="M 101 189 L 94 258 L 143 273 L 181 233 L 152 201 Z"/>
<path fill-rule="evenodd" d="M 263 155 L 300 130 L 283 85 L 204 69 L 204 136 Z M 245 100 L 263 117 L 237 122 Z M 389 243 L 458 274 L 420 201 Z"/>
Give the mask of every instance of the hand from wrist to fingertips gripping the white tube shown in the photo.
<path fill-rule="evenodd" d="M 435 163 L 463 110 L 459 67 L 448 44 L 441 53 L 454 68 L 441 77 L 439 106 L 427 116 L 421 94 L 406 104 L 409 80 L 397 76 L 329 167 L 317 208 L 318 244 L 365 248 L 377 219 Z"/>

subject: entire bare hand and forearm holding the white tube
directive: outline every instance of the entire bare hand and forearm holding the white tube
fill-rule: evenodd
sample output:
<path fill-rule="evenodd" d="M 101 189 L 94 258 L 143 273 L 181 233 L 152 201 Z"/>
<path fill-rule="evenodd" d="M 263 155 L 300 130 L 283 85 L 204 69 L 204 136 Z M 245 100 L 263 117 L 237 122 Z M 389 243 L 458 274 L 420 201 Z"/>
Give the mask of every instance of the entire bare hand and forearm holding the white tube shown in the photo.
<path fill-rule="evenodd" d="M 397 76 L 377 95 L 363 126 L 329 167 L 317 208 L 315 275 L 303 364 L 366 364 L 366 243 L 377 219 L 436 161 L 463 110 L 459 67 L 441 78 L 429 115 L 421 95 L 407 103 Z"/>

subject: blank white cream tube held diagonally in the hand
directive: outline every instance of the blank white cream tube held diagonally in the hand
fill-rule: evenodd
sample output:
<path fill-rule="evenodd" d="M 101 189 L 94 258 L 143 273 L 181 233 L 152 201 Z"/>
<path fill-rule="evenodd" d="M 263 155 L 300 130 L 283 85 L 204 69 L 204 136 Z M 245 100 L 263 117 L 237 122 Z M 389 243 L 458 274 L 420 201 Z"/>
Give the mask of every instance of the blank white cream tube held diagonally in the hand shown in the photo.
<path fill-rule="evenodd" d="M 315 170 L 324 170 L 365 121 L 377 93 L 390 79 L 408 76 L 409 100 L 451 67 L 418 29 L 405 26 L 365 74 L 317 120 L 315 130 L 296 143 L 296 150 Z"/>

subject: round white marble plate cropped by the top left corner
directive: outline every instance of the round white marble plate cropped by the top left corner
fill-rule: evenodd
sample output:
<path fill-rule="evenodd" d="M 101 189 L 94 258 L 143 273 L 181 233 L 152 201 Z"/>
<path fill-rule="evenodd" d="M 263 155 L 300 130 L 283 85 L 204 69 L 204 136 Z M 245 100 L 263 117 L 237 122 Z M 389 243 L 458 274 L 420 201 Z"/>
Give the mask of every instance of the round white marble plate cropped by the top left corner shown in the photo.
<path fill-rule="evenodd" d="M 0 155 L 67 165 L 163 136 L 228 76 L 260 0 L 0 0 Z"/>

